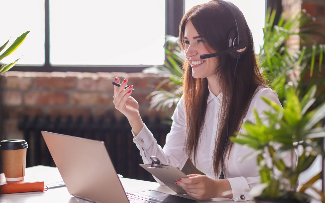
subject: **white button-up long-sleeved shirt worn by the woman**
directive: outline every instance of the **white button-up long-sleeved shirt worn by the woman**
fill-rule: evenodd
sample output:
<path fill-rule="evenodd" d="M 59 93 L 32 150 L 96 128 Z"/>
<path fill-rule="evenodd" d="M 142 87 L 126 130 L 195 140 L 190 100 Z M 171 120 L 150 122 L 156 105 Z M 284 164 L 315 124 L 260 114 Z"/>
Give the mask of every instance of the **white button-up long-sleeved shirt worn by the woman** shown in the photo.
<path fill-rule="evenodd" d="M 209 89 L 210 91 L 210 89 Z M 259 115 L 263 111 L 270 110 L 270 107 L 262 100 L 261 96 L 281 105 L 278 95 L 270 88 L 260 89 L 253 97 L 248 112 L 244 120 L 255 122 L 253 108 Z M 199 145 L 197 148 L 197 159 L 195 167 L 205 173 L 208 177 L 218 179 L 219 175 L 214 174 L 213 152 L 218 130 L 218 120 L 221 107 L 222 93 L 215 96 L 211 91 L 207 100 L 205 122 L 203 124 Z M 184 107 L 184 96 L 181 97 L 172 116 L 173 124 L 170 133 L 166 136 L 166 144 L 162 148 L 157 144 L 152 133 L 145 125 L 140 133 L 135 136 L 133 142 L 140 150 L 140 155 L 145 164 L 151 163 L 150 156 L 156 156 L 162 164 L 183 168 L 188 159 L 184 150 L 186 140 L 186 114 Z M 240 128 L 240 133 L 243 133 Z M 249 190 L 260 183 L 259 172 L 257 170 L 256 156 L 244 162 L 238 161 L 241 157 L 251 154 L 254 150 L 246 146 L 234 143 L 229 158 L 225 160 L 225 178 L 230 182 L 233 200 L 247 201 L 252 197 L 248 194 Z M 227 157 L 227 156 L 226 156 Z M 228 163 L 228 165 L 227 165 Z M 156 179 L 157 180 L 157 179 Z M 158 180 L 157 180 L 158 181 Z M 158 181 L 162 184 L 160 181 Z M 244 199 L 243 199 L 244 197 Z"/>

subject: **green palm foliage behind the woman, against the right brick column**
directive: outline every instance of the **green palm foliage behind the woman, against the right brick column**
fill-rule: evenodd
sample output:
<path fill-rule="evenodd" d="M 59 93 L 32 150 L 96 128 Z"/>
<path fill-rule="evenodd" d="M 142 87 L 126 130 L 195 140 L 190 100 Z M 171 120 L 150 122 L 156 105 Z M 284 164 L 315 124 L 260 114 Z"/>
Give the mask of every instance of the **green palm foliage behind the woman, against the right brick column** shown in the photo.
<path fill-rule="evenodd" d="M 304 46 L 299 50 L 299 42 L 297 44 L 286 44 L 290 37 L 308 38 L 310 34 L 315 34 L 314 28 L 308 27 L 303 29 L 307 27 L 306 25 L 312 19 L 304 13 L 293 14 L 287 17 L 282 15 L 278 24 L 273 26 L 275 13 L 275 10 L 272 12 L 267 10 L 266 24 L 263 29 L 264 44 L 257 58 L 262 75 L 268 80 L 268 85 L 278 94 L 279 101 L 282 104 L 285 99 L 285 84 L 291 83 L 295 86 L 300 98 L 306 94 L 306 91 L 313 84 L 317 84 L 318 87 L 325 85 L 325 78 L 322 78 L 320 75 L 325 46 L 323 44 L 312 45 L 311 47 Z M 321 35 L 324 34 L 321 33 Z M 294 46 L 298 46 L 298 48 L 292 48 Z M 316 77 L 313 77 L 317 56 L 319 56 L 318 74 Z M 308 69 L 310 69 L 309 74 L 307 74 Z M 304 78 L 310 82 L 305 84 Z M 324 94 L 320 94 L 319 97 L 322 95 Z"/>

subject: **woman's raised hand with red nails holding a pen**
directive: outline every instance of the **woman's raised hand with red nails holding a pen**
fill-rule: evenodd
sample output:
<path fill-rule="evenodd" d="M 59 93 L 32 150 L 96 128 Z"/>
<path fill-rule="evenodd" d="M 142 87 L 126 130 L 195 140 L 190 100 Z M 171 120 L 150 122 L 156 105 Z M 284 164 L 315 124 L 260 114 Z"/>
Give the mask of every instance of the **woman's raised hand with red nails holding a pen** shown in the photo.
<path fill-rule="evenodd" d="M 115 78 L 115 82 L 120 83 L 120 80 Z M 121 111 L 121 113 L 126 116 L 133 132 L 137 135 L 143 128 L 144 124 L 139 114 L 139 104 L 132 96 L 130 96 L 132 94 L 131 90 L 133 85 L 124 89 L 127 82 L 127 79 L 124 79 L 120 87 L 114 86 L 113 104 L 117 110 Z"/>

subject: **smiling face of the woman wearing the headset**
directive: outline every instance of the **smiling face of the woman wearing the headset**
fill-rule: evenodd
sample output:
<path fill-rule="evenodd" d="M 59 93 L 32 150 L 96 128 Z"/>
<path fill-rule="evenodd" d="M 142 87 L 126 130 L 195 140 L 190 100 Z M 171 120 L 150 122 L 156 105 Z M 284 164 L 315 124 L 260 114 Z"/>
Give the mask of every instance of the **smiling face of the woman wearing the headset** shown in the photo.
<path fill-rule="evenodd" d="M 194 78 L 215 77 L 216 57 L 201 60 L 203 54 L 211 54 L 214 51 L 204 39 L 199 36 L 191 21 L 185 25 L 184 32 L 184 55 L 192 67 L 192 76 Z"/>

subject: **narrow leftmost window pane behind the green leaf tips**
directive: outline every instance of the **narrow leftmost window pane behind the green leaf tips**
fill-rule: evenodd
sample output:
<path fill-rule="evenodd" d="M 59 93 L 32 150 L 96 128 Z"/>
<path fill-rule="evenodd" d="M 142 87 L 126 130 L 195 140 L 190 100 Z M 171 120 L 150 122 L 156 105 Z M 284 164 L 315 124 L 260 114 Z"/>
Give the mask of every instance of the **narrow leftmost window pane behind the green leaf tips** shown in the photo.
<path fill-rule="evenodd" d="M 0 0 L 0 5 L 0 46 L 9 39 L 9 44 L 12 44 L 22 33 L 31 31 L 23 44 L 1 62 L 11 63 L 20 58 L 17 64 L 43 65 L 45 62 L 44 0 Z"/>

